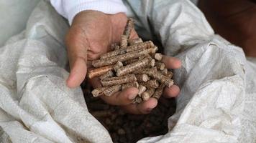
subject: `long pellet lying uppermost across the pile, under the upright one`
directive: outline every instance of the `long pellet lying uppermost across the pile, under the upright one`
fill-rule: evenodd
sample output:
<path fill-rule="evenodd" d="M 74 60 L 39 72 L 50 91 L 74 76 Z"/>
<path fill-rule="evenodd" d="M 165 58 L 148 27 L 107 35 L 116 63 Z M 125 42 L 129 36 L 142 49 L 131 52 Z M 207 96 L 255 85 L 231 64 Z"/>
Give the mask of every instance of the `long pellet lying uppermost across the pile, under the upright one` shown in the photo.
<path fill-rule="evenodd" d="M 137 51 L 138 49 L 150 49 L 150 48 L 154 48 L 154 44 L 152 41 L 145 41 L 143 43 L 140 44 L 135 44 L 132 46 L 127 46 L 127 48 L 124 49 L 116 49 L 114 51 L 109 51 L 108 53 L 102 54 L 100 56 L 100 59 L 106 59 L 109 57 L 113 57 L 113 56 L 117 56 L 119 54 L 126 54 L 132 51 Z"/>

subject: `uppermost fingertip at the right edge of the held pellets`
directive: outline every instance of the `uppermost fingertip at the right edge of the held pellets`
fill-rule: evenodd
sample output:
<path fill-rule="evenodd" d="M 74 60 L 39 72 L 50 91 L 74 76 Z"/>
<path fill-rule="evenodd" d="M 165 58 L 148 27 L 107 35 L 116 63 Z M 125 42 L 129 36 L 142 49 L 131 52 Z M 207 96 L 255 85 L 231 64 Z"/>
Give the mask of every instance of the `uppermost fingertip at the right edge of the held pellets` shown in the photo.
<path fill-rule="evenodd" d="M 180 59 L 170 56 L 163 56 L 162 62 L 168 69 L 179 69 L 181 66 Z"/>

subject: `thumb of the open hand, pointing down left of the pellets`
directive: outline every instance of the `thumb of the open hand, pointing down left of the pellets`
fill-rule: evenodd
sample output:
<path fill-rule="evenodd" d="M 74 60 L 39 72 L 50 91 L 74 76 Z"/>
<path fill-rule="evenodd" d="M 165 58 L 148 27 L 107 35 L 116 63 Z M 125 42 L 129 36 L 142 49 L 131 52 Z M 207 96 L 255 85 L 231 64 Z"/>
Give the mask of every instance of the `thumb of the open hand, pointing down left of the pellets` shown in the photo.
<path fill-rule="evenodd" d="M 83 39 L 86 38 L 81 34 L 81 31 L 72 28 L 70 28 L 66 36 L 70 63 L 70 75 L 67 79 L 67 85 L 70 88 L 78 87 L 86 77 L 88 42 Z"/>

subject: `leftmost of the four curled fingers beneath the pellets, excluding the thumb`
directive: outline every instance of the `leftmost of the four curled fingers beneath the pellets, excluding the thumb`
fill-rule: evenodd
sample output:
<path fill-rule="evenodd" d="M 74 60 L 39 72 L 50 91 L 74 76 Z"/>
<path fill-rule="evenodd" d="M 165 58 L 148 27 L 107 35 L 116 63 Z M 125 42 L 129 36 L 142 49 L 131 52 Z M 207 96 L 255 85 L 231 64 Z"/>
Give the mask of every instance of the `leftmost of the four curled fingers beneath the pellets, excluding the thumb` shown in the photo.
<path fill-rule="evenodd" d="M 125 89 L 123 92 L 117 92 L 111 95 L 111 97 L 102 96 L 101 99 L 112 105 L 127 105 L 132 103 L 138 92 L 139 90 L 137 88 L 132 87 Z"/>

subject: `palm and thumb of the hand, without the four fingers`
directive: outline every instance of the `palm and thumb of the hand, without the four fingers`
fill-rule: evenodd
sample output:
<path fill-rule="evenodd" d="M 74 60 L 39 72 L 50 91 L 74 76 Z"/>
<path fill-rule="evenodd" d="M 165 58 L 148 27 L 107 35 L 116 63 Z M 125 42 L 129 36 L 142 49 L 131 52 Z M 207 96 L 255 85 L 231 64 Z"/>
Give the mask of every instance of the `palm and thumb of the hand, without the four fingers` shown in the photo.
<path fill-rule="evenodd" d="M 66 35 L 70 75 L 68 87 L 78 87 L 86 77 L 89 61 L 98 59 L 101 54 L 109 51 L 110 45 L 120 41 L 120 35 L 127 23 L 123 13 L 104 14 L 99 11 L 81 11 L 73 19 Z M 130 38 L 137 38 L 133 30 Z M 88 62 L 87 62 L 88 61 Z"/>

